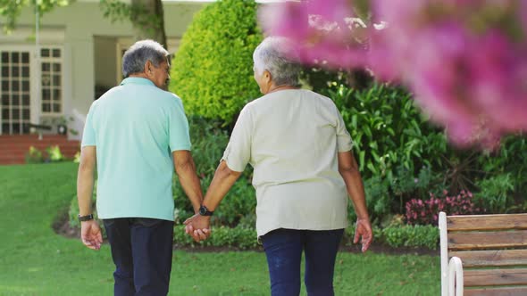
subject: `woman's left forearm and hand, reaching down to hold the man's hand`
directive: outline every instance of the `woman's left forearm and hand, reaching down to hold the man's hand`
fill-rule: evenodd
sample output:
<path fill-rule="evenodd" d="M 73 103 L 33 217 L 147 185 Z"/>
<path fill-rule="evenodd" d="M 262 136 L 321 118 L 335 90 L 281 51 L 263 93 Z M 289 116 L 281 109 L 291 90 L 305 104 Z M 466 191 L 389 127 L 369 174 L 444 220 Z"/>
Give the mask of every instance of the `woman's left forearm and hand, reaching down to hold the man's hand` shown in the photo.
<path fill-rule="evenodd" d="M 205 200 L 203 205 L 208 210 L 216 210 L 223 197 L 227 195 L 230 190 L 230 187 L 234 185 L 238 177 L 241 176 L 241 172 L 234 171 L 229 169 L 227 162 L 222 160 L 218 169 L 214 173 L 213 181 L 205 193 Z M 206 234 L 202 234 L 202 229 L 207 229 L 207 232 L 210 235 L 208 230 L 210 226 L 210 216 L 201 216 L 199 214 L 194 215 L 191 218 L 188 218 L 185 221 L 185 231 L 188 234 L 191 234 L 194 237 L 194 240 L 199 242 L 200 240 L 205 240 Z"/>

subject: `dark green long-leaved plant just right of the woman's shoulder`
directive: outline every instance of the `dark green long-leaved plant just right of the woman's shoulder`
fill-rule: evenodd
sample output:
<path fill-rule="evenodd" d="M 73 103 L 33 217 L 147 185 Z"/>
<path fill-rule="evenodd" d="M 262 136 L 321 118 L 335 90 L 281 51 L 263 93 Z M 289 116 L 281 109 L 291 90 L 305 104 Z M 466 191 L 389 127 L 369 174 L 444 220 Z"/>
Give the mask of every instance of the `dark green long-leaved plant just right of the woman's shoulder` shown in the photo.
<path fill-rule="evenodd" d="M 412 174 L 423 165 L 440 166 L 446 137 L 422 118 L 404 89 L 373 84 L 359 91 L 341 85 L 325 95 L 342 114 L 364 178 L 386 176 L 391 181 L 398 165 Z"/>

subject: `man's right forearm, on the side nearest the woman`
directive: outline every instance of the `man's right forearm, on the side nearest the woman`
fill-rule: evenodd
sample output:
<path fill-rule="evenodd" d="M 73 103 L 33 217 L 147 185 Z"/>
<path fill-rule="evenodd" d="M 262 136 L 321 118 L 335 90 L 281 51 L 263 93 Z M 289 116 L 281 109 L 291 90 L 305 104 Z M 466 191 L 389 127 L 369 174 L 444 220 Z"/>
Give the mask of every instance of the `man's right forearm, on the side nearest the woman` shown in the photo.
<path fill-rule="evenodd" d="M 181 187 L 187 193 L 188 200 L 190 200 L 194 208 L 194 213 L 197 213 L 201 201 L 203 201 L 203 193 L 192 154 L 188 150 L 177 150 L 172 152 L 172 156 L 174 168 L 180 178 Z"/>

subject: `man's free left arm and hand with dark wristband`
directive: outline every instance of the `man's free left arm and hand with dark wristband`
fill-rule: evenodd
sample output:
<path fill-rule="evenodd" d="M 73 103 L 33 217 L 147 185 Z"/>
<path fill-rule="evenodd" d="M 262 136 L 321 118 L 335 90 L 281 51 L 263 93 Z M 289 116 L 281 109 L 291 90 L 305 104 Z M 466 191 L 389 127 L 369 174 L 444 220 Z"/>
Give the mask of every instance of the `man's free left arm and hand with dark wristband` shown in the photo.
<path fill-rule="evenodd" d="M 77 175 L 79 216 L 92 214 L 91 203 L 96 170 L 96 146 L 84 146 L 80 151 Z M 89 249 L 99 250 L 103 243 L 101 229 L 95 219 L 80 222 L 80 239 Z"/>

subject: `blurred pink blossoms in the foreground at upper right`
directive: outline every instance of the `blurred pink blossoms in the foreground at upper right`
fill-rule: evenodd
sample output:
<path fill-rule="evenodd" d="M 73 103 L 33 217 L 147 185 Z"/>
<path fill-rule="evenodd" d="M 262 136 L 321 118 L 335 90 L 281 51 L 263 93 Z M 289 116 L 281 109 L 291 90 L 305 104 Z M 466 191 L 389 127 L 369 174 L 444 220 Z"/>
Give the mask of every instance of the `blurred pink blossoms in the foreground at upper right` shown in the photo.
<path fill-rule="evenodd" d="M 260 20 L 304 62 L 408 86 L 456 144 L 527 130 L 527 1 L 310 0 L 265 5 Z"/>

